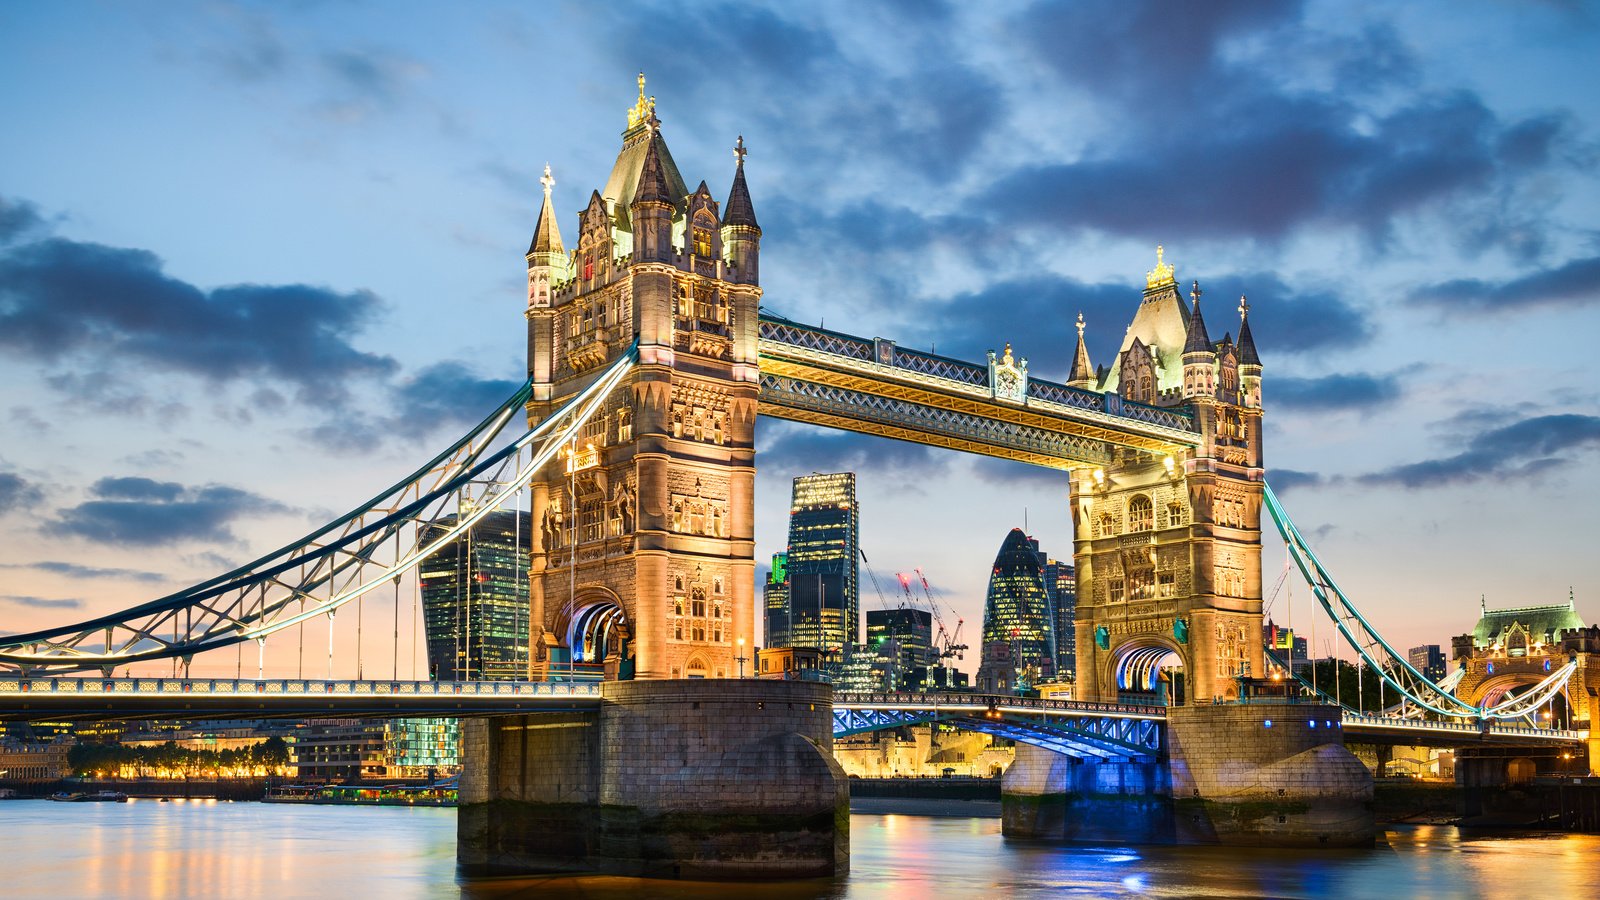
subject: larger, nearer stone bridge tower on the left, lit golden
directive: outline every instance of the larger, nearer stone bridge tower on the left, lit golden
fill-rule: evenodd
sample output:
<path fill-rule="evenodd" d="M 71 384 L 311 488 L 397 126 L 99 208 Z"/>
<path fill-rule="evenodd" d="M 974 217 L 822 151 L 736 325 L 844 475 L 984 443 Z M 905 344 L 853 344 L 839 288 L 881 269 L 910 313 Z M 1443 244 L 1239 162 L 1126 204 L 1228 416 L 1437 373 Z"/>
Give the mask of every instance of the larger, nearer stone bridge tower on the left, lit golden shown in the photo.
<path fill-rule="evenodd" d="M 528 421 L 638 341 L 574 452 L 533 479 L 531 674 L 734 676 L 754 650 L 754 436 L 762 229 L 744 139 L 718 207 L 690 191 L 654 98 L 562 243 L 549 168 L 528 248 Z M 742 637 L 742 644 L 741 639 Z"/>

